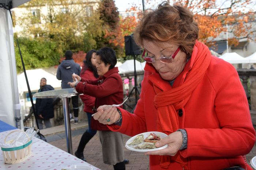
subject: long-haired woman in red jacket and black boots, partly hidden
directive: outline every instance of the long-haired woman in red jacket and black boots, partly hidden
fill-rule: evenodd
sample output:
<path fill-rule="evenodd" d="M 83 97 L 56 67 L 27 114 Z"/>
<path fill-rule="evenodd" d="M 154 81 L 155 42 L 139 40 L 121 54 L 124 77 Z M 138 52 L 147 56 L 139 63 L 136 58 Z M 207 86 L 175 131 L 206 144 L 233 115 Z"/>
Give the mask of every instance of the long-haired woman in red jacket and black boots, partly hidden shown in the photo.
<path fill-rule="evenodd" d="M 84 65 L 82 67 L 82 71 L 80 73 L 80 77 L 89 80 L 96 80 L 99 76 L 96 69 L 96 50 L 90 50 L 86 53 L 86 57 L 84 60 Z M 77 158 L 86 161 L 83 155 L 84 147 L 86 144 L 93 138 L 93 136 L 97 133 L 97 130 L 93 130 L 91 128 L 91 115 L 93 114 L 93 107 L 95 103 L 95 97 L 89 96 L 87 94 L 80 95 L 80 98 L 83 101 L 84 108 L 83 111 L 86 112 L 88 117 L 88 129 L 82 135 L 78 148 L 75 151 L 75 155 Z"/>

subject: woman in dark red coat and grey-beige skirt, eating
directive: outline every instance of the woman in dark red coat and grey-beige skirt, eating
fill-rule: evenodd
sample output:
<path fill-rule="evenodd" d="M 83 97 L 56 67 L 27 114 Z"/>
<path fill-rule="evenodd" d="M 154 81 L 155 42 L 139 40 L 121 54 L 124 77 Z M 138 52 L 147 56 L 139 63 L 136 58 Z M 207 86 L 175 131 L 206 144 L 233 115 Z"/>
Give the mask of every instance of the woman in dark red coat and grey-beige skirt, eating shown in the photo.
<path fill-rule="evenodd" d="M 103 47 L 96 53 L 96 68 L 99 78 L 89 80 L 73 75 L 79 82 L 69 82 L 78 93 L 96 97 L 94 108 L 100 105 L 112 105 L 123 102 L 123 81 L 118 74 L 116 53 L 109 47 Z M 104 121 L 110 121 L 106 119 Z M 103 162 L 114 166 L 114 170 L 125 170 L 123 136 L 112 132 L 105 124 L 91 119 L 91 128 L 99 131 L 102 145 Z"/>

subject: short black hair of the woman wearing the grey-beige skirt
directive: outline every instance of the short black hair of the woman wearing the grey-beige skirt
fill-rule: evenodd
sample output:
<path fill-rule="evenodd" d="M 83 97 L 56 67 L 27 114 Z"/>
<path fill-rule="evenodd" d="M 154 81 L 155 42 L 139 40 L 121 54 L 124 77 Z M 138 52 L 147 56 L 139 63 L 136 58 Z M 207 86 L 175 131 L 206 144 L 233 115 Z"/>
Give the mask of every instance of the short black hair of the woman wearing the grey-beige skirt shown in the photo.
<path fill-rule="evenodd" d="M 113 69 L 117 63 L 116 52 L 110 47 L 102 47 L 96 53 L 96 55 L 101 56 L 101 61 L 105 65 L 110 64 L 109 70 Z"/>

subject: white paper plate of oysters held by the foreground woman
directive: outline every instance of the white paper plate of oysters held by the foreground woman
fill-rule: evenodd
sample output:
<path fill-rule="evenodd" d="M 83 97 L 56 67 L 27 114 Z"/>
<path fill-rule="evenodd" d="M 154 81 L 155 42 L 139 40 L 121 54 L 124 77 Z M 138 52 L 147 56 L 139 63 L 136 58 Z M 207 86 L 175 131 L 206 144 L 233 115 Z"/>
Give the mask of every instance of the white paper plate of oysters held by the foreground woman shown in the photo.
<path fill-rule="evenodd" d="M 141 133 L 141 134 L 138 134 L 138 135 L 144 135 L 144 139 L 147 138 L 148 135 L 150 135 L 151 133 L 155 133 L 157 136 L 160 136 L 161 139 L 165 138 L 167 135 L 162 133 L 162 132 L 144 132 L 144 133 Z M 134 138 L 136 138 L 136 136 L 138 135 L 135 135 L 133 136 L 132 138 L 130 138 L 129 140 L 127 140 L 127 142 L 125 143 L 125 147 L 131 151 L 136 151 L 136 152 L 149 152 L 149 151 L 158 151 L 158 150 L 161 150 L 161 149 L 164 149 L 166 148 L 168 145 L 166 144 L 165 146 L 162 146 L 162 147 L 159 147 L 159 148 L 154 148 L 154 149 L 135 149 L 134 146 L 132 145 L 129 145 L 129 143 L 132 142 L 132 140 Z"/>

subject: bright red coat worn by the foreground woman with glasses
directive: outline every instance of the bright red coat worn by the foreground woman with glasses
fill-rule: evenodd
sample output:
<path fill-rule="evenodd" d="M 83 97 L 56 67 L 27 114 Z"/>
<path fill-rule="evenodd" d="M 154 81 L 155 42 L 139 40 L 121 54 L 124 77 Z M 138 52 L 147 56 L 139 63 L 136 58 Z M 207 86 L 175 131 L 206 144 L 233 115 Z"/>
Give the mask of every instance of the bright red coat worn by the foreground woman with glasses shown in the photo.
<path fill-rule="evenodd" d="M 193 59 L 174 81 L 179 86 L 193 66 Z M 145 66 L 142 92 L 134 114 L 120 109 L 123 116 L 121 127 L 109 125 L 112 131 L 129 136 L 157 130 L 157 109 L 154 105 L 153 84 L 162 90 L 172 88 L 151 64 Z M 150 81 L 149 77 L 151 77 Z M 205 76 L 192 92 L 184 108 L 176 111 L 180 128 L 187 131 L 188 147 L 181 156 L 188 159 L 189 170 L 221 170 L 232 166 L 245 169 L 241 155 L 248 154 L 255 144 L 247 98 L 236 69 L 229 63 L 212 56 Z M 161 170 L 159 156 L 150 155 L 150 170 Z M 247 169 L 251 167 L 247 165 Z M 170 162 L 169 170 L 182 170 L 177 162 Z"/>

